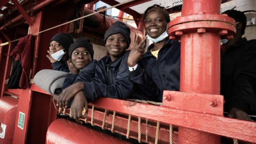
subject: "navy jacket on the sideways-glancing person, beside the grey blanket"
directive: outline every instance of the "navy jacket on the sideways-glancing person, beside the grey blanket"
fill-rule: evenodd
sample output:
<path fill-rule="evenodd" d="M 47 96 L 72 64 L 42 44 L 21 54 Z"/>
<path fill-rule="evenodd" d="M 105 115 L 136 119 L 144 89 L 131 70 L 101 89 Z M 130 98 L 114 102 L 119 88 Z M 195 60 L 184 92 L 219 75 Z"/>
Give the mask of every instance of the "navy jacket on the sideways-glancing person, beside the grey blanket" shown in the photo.
<path fill-rule="evenodd" d="M 92 78 L 94 77 L 95 74 L 95 67 L 97 64 L 97 60 L 92 60 L 86 67 L 84 67 L 79 74 L 71 74 L 68 73 L 66 75 L 65 81 L 63 83 L 63 88 L 67 88 L 73 83 L 77 82 L 91 82 Z"/>

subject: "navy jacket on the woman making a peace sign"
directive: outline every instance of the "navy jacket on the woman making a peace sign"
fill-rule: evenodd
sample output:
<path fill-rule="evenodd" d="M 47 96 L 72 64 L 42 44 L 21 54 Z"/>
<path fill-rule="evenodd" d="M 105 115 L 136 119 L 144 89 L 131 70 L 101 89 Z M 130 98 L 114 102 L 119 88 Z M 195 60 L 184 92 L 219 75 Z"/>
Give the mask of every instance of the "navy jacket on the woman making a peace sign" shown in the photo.
<path fill-rule="evenodd" d="M 158 58 L 150 52 L 153 47 L 154 44 L 148 47 L 130 78 L 144 96 L 162 102 L 164 90 L 180 90 L 180 43 L 166 40 Z"/>

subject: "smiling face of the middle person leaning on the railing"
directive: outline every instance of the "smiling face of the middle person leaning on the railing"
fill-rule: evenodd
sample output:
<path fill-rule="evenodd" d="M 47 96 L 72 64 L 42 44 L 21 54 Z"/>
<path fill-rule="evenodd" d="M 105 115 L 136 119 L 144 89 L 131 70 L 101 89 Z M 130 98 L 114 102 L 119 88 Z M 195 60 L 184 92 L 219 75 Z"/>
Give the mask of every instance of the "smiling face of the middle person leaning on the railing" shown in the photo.
<path fill-rule="evenodd" d="M 105 46 L 111 61 L 115 61 L 125 53 L 126 45 L 126 40 L 121 33 L 112 34 L 107 38 Z"/>

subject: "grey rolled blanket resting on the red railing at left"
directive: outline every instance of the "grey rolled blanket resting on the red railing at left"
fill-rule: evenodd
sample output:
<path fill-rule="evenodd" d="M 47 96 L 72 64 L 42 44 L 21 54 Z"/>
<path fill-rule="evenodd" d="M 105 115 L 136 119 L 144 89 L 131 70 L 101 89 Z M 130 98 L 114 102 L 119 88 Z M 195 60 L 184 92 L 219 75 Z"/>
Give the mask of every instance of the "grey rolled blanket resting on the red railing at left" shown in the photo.
<path fill-rule="evenodd" d="M 43 69 L 36 73 L 34 83 L 52 95 L 60 95 L 66 77 L 66 72 Z"/>

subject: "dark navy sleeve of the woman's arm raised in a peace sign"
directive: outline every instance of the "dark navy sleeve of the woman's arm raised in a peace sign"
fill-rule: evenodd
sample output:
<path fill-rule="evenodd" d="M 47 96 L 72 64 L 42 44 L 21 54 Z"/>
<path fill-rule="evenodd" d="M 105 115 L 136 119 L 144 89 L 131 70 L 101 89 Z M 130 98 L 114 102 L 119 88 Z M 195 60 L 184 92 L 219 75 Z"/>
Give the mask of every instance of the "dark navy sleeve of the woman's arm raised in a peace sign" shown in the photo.
<path fill-rule="evenodd" d="M 127 67 L 128 69 L 128 67 Z M 155 83 L 149 78 L 147 73 L 138 64 L 136 70 L 129 71 L 130 79 L 136 83 L 140 93 L 147 97 L 149 100 L 156 100 L 157 97 L 162 95 L 162 92 L 155 85 Z"/>

